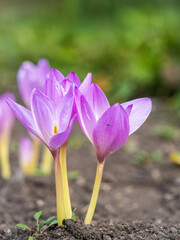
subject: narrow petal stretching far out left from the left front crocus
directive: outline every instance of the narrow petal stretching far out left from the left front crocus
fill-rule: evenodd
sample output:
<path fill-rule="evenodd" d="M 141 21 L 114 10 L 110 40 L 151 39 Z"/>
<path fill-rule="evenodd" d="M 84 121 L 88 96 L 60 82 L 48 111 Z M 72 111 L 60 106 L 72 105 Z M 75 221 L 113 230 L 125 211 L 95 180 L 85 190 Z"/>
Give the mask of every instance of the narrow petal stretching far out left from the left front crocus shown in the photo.
<path fill-rule="evenodd" d="M 44 142 L 44 139 L 39 131 L 39 129 L 36 126 L 36 123 L 34 122 L 33 115 L 30 110 L 27 108 L 17 104 L 12 99 L 6 100 L 9 107 L 11 108 L 14 115 L 17 117 L 17 119 L 25 126 L 25 128 L 28 129 L 31 133 L 33 133 L 36 137 L 38 137 L 41 141 Z"/>

